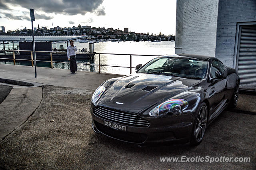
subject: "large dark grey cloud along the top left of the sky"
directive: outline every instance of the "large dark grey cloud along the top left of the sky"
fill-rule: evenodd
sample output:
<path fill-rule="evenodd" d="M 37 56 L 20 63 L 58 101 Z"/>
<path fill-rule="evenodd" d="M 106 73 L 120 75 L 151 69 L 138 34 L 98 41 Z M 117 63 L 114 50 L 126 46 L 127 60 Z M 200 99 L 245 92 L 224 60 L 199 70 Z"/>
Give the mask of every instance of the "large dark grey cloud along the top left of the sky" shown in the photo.
<path fill-rule="evenodd" d="M 100 8 L 103 0 L 1 0 L 0 9 L 8 8 L 5 4 L 10 6 L 21 6 L 29 9 L 34 8 L 36 11 L 46 13 L 64 14 L 64 15 L 85 15 L 87 12 L 105 15 L 105 9 Z M 98 10 L 97 10 L 98 9 Z"/>

